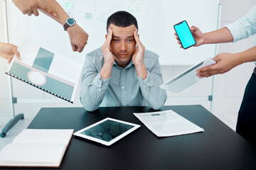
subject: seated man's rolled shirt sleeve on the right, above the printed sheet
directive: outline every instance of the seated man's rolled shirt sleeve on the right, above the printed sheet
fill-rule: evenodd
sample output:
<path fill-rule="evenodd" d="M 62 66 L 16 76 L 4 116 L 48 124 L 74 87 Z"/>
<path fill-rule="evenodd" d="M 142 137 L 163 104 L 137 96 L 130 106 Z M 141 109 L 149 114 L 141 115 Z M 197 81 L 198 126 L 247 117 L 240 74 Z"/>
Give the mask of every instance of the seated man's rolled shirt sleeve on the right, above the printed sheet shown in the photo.
<path fill-rule="evenodd" d="M 147 73 L 146 79 L 138 77 L 139 86 L 142 90 L 142 96 L 145 98 L 149 106 L 154 110 L 159 110 L 167 99 L 166 91 L 160 89 L 160 85 L 163 84 L 163 79 L 160 72 L 159 60 L 156 61 L 153 69 Z"/>

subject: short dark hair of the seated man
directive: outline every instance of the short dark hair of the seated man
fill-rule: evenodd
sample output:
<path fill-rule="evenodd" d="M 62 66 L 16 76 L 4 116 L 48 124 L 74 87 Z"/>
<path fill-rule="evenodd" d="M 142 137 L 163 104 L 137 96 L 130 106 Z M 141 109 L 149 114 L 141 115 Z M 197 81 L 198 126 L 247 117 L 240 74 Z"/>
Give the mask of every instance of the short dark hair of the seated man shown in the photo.
<path fill-rule="evenodd" d="M 107 33 L 110 24 L 119 27 L 127 27 L 134 25 L 138 30 L 137 20 L 131 13 L 127 11 L 117 11 L 107 18 Z"/>

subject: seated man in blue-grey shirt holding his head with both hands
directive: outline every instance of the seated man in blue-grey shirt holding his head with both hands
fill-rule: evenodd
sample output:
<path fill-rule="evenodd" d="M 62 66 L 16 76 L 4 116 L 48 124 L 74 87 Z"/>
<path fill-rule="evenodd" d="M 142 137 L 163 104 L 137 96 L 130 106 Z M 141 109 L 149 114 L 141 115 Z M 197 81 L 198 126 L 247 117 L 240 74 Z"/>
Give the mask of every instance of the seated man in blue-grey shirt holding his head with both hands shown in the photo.
<path fill-rule="evenodd" d="M 80 101 L 87 111 L 99 106 L 164 106 L 159 55 L 145 50 L 137 30 L 136 18 L 126 11 L 107 19 L 106 41 L 86 55 L 82 70 Z"/>

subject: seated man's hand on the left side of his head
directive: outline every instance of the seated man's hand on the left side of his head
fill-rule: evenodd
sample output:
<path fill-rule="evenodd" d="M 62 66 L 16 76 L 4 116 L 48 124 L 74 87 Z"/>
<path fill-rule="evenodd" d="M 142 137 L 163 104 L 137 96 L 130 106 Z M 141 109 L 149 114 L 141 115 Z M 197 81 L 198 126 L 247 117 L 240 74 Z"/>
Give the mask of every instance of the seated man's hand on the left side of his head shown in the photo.
<path fill-rule="evenodd" d="M 110 65 L 114 64 L 114 55 L 110 51 L 110 42 L 112 40 L 112 35 L 113 35 L 113 32 L 111 29 L 109 29 L 106 40 L 101 47 L 102 54 L 104 57 L 104 62 L 105 62 L 105 64 L 110 64 Z"/>

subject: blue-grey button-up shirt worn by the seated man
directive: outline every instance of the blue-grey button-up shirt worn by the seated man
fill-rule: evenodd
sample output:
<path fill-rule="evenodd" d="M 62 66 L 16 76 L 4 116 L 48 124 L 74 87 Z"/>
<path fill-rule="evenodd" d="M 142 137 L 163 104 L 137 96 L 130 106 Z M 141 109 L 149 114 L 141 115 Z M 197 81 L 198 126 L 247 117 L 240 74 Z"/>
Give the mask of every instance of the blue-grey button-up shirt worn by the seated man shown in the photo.
<path fill-rule="evenodd" d="M 113 64 L 110 78 L 101 79 L 100 70 L 104 64 L 101 48 L 86 55 L 82 69 L 80 101 L 87 111 L 99 106 L 150 106 L 158 110 L 166 101 L 159 55 L 145 50 L 144 65 L 148 71 L 146 79 L 137 76 L 132 60 L 122 68 Z"/>

